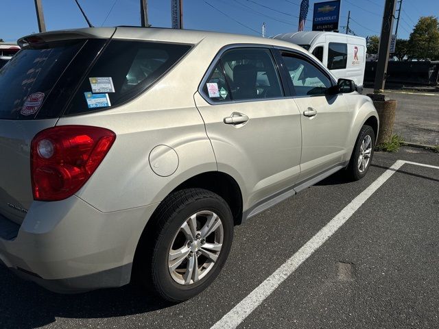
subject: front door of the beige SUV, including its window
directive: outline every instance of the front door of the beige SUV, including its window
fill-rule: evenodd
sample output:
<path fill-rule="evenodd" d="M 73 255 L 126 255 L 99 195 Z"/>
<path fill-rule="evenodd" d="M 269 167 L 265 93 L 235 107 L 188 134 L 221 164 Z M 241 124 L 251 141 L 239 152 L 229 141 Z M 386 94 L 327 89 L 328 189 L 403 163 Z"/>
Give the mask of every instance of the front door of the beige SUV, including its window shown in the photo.
<path fill-rule="evenodd" d="M 281 51 L 290 88 L 300 110 L 302 157 L 300 182 L 344 165 L 352 111 L 344 95 L 328 95 L 335 81 L 305 53 Z"/>

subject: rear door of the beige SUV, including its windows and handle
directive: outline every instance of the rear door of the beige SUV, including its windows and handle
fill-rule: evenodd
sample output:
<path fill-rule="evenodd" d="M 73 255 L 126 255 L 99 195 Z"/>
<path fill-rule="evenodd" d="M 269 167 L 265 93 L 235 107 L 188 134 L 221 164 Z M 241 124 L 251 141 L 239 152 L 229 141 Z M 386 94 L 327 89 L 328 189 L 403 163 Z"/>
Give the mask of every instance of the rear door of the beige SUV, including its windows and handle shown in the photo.
<path fill-rule="evenodd" d="M 221 52 L 195 103 L 219 171 L 230 173 L 244 190 L 244 210 L 270 202 L 279 191 L 294 193 L 300 174 L 300 111 L 285 98 L 269 47 Z"/>

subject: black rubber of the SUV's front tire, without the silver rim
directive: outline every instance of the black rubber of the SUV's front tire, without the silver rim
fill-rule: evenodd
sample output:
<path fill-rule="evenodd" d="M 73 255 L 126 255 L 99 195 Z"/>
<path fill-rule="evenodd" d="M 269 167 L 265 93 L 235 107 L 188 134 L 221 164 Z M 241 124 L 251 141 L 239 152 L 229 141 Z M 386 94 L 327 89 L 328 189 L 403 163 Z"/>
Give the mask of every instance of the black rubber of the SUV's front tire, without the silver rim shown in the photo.
<path fill-rule="evenodd" d="M 368 161 L 368 164 L 366 166 L 366 169 L 363 171 L 360 171 L 358 164 L 359 164 L 359 156 L 361 152 L 361 143 L 364 141 L 364 138 L 366 136 L 370 136 L 372 143 L 372 149 L 370 151 L 370 160 Z M 370 163 L 372 162 L 373 158 L 373 152 L 375 149 L 375 132 L 373 131 L 372 127 L 370 125 L 364 125 L 361 127 L 361 130 L 359 131 L 357 141 L 355 141 L 355 146 L 351 155 L 351 160 L 349 160 L 348 167 L 346 167 L 346 176 L 350 180 L 361 180 L 361 178 L 364 178 L 366 174 L 369 171 Z"/>

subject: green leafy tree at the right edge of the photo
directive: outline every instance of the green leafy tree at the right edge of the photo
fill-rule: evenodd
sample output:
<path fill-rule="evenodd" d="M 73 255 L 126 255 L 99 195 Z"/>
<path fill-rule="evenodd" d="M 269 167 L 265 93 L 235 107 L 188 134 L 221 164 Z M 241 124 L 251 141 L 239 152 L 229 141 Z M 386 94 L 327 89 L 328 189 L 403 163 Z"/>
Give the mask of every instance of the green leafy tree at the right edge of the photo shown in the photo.
<path fill-rule="evenodd" d="M 418 60 L 439 60 L 439 21 L 437 17 L 420 17 L 410 34 L 409 55 Z"/>

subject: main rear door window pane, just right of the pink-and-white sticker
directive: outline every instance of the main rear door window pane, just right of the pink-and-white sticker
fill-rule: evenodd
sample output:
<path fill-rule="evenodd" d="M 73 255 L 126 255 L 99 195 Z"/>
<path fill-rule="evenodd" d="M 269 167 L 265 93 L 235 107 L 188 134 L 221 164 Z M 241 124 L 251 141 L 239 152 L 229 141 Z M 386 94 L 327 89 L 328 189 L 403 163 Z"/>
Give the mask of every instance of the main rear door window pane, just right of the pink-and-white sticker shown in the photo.
<path fill-rule="evenodd" d="M 222 64 L 233 100 L 283 96 L 269 49 L 230 49 L 223 54 Z"/>

